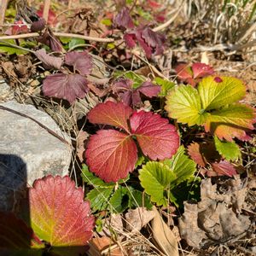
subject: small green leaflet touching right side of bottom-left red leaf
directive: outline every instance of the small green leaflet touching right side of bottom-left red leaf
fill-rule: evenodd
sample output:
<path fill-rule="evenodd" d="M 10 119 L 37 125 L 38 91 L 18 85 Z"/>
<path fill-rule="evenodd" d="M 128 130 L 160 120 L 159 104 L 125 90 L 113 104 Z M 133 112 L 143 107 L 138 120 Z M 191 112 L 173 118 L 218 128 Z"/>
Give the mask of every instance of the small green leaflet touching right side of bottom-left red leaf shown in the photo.
<path fill-rule="evenodd" d="M 113 188 L 96 188 L 90 190 L 85 199 L 90 201 L 90 207 L 94 212 L 108 208 L 108 201 L 113 194 Z"/>

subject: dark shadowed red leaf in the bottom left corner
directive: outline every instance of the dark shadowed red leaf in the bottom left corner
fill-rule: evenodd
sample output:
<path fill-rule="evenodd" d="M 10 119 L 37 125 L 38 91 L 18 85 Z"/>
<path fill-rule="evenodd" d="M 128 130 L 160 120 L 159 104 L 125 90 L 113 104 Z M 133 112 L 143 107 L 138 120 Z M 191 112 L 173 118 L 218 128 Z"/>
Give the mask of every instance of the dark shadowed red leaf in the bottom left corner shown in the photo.
<path fill-rule="evenodd" d="M 1 255 L 13 255 L 11 252 L 16 255 L 15 251 L 30 248 L 44 248 L 44 243 L 40 241 L 38 236 L 33 233 L 33 230 L 23 220 L 16 218 L 13 213 L 0 212 Z M 10 250 L 9 254 L 4 254 L 4 249 Z"/>

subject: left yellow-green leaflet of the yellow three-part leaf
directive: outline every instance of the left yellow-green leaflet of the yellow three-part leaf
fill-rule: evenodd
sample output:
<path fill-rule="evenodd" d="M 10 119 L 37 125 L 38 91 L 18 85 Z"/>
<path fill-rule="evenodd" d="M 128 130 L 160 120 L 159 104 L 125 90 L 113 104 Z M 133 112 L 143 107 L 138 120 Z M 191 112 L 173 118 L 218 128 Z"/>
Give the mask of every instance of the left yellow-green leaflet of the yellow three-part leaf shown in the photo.
<path fill-rule="evenodd" d="M 200 96 L 192 86 L 180 85 L 166 99 L 166 110 L 170 118 L 189 126 L 205 123 L 207 113 L 201 108 Z"/>

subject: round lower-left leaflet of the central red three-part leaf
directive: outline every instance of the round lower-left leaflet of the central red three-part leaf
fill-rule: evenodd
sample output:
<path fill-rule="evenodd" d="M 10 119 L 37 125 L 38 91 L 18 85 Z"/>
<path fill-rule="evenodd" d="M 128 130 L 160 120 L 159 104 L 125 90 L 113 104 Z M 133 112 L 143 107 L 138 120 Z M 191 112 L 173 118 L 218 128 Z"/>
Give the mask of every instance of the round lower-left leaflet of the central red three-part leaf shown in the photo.
<path fill-rule="evenodd" d="M 137 162 L 137 146 L 125 133 L 101 130 L 90 137 L 85 157 L 91 172 L 107 183 L 117 182 L 133 171 Z"/>

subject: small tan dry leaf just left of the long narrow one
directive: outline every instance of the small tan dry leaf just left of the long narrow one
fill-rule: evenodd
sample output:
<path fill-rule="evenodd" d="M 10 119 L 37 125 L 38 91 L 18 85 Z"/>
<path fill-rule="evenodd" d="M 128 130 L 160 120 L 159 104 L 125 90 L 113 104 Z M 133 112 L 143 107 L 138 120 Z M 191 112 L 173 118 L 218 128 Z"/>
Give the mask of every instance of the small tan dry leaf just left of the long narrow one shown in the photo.
<path fill-rule="evenodd" d="M 153 218 L 154 212 L 148 211 L 145 207 L 128 210 L 125 213 L 126 229 L 131 231 L 131 233 L 137 233 Z"/>

